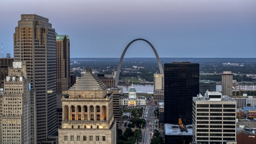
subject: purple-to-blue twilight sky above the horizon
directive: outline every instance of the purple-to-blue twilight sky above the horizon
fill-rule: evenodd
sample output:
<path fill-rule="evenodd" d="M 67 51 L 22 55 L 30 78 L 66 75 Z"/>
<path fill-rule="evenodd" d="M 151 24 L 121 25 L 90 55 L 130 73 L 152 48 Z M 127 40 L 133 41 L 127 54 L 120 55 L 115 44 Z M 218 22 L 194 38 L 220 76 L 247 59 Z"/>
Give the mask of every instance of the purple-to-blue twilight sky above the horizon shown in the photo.
<path fill-rule="evenodd" d="M 21 14 L 48 18 L 70 37 L 71 58 L 119 58 L 133 39 L 147 39 L 159 57 L 255 58 L 254 0 L 0 1 L 0 43 L 13 57 Z M 125 57 L 155 57 L 143 41 Z"/>

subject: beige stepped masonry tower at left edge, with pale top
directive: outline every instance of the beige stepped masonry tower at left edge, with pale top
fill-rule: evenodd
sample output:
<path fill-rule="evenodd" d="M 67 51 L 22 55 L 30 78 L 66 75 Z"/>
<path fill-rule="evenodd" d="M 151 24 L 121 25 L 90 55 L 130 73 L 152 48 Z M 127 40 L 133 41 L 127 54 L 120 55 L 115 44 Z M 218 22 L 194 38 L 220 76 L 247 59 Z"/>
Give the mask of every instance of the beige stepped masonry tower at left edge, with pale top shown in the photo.
<path fill-rule="evenodd" d="M 31 103 L 34 91 L 30 87 L 30 78 L 27 78 L 26 63 L 13 62 L 13 67 L 8 70 L 1 95 L 1 143 L 30 144 L 31 133 L 34 133 L 31 107 L 35 106 Z"/>

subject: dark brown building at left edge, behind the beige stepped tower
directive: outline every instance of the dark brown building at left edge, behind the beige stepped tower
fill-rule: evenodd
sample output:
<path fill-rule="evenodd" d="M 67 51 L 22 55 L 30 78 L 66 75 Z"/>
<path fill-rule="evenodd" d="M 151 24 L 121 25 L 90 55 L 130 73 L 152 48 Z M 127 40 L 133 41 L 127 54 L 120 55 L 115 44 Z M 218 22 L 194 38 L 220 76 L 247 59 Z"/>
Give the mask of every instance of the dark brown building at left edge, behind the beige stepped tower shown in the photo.
<path fill-rule="evenodd" d="M 4 79 L 8 75 L 8 67 L 12 67 L 13 58 L 0 58 L 0 89 L 4 89 Z"/>

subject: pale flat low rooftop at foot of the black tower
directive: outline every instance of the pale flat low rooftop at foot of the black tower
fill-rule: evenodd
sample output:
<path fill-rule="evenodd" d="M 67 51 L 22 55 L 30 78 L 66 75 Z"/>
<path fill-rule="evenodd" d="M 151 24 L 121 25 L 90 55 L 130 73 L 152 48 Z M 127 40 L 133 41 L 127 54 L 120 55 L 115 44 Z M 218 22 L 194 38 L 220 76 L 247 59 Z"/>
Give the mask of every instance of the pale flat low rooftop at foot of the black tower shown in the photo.
<path fill-rule="evenodd" d="M 193 135 L 193 126 L 186 125 L 186 127 L 188 132 L 181 132 L 179 125 L 164 124 L 164 133 L 165 135 Z"/>

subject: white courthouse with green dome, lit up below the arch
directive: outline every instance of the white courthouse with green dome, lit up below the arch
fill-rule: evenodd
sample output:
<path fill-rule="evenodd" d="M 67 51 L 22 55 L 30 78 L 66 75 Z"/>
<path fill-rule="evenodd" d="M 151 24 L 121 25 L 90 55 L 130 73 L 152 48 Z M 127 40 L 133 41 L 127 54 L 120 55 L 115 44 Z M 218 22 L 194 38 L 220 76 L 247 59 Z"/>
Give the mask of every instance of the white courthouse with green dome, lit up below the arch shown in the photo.
<path fill-rule="evenodd" d="M 133 87 L 133 84 L 132 84 L 132 87 L 129 90 L 128 98 L 121 97 L 120 98 L 120 105 L 123 105 L 123 106 L 138 106 L 138 105 L 145 106 L 146 101 L 147 101 L 146 97 L 143 97 L 143 96 L 138 96 L 137 97 L 136 90 L 135 90 L 135 88 Z"/>

